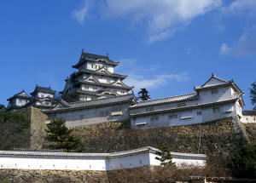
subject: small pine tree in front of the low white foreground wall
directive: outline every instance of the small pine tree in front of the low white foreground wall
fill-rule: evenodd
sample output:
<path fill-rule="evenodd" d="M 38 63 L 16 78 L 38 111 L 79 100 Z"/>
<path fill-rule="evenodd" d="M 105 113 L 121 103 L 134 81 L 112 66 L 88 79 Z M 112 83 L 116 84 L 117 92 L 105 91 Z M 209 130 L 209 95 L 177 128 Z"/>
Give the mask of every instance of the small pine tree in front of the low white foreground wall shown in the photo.
<path fill-rule="evenodd" d="M 168 165 L 173 166 L 175 163 L 172 163 L 172 154 L 171 150 L 166 147 L 160 147 L 160 151 L 156 152 L 155 154 L 159 155 L 160 157 L 155 157 L 155 159 L 160 160 L 161 165 Z"/>

